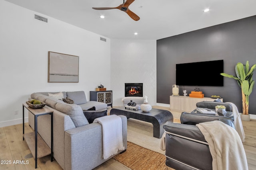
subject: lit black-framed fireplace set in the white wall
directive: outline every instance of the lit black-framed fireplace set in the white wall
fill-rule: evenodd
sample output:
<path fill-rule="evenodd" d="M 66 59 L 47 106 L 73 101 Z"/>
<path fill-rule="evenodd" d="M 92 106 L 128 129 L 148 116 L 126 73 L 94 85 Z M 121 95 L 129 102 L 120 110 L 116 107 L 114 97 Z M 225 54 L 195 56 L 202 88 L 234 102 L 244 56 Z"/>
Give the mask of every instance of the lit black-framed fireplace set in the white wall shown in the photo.
<path fill-rule="evenodd" d="M 143 97 L 143 83 L 125 83 L 124 96 Z"/>

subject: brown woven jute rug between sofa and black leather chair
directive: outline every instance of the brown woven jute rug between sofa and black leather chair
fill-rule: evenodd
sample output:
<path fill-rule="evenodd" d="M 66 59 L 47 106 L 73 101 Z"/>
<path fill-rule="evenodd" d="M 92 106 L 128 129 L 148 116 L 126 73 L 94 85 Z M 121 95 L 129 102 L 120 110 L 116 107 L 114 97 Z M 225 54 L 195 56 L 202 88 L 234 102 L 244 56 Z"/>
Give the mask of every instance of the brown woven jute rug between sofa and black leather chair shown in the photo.
<path fill-rule="evenodd" d="M 118 162 L 132 170 L 166 170 L 165 156 L 163 154 L 145 149 L 128 142 L 126 152 L 113 157 Z M 168 167 L 168 170 L 173 170 Z"/>

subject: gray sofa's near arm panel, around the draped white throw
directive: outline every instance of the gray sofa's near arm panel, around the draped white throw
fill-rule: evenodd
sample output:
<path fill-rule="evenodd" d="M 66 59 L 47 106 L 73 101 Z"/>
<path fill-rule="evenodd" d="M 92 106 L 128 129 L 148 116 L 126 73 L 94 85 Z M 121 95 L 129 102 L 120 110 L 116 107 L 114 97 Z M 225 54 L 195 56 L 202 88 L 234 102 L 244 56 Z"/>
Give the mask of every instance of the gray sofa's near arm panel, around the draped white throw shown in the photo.
<path fill-rule="evenodd" d="M 127 149 L 127 118 L 123 115 L 119 116 L 122 118 L 123 141 L 124 147 Z M 102 155 L 100 123 L 91 123 L 65 132 L 65 167 L 67 170 L 93 169 L 106 161 Z"/>

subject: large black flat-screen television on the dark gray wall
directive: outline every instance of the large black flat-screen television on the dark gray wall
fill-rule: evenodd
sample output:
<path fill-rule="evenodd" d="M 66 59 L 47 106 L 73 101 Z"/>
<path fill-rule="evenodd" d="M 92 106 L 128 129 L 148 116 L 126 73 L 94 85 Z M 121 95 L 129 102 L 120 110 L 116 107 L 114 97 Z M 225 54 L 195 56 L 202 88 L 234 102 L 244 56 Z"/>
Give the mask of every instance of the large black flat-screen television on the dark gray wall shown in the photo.
<path fill-rule="evenodd" d="M 223 86 L 223 60 L 176 64 L 176 85 Z"/>

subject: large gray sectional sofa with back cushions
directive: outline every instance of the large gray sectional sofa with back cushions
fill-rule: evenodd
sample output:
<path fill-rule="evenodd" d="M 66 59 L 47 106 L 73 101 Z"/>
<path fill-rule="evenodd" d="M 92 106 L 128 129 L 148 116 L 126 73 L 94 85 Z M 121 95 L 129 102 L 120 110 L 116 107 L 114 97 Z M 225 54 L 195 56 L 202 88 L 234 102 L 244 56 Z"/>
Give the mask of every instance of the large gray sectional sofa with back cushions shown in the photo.
<path fill-rule="evenodd" d="M 89 123 L 83 110 L 86 111 L 86 108 L 89 109 L 94 106 L 96 108 L 94 112 L 97 112 L 106 109 L 106 106 L 99 102 L 86 101 L 82 91 L 62 93 L 64 98 L 68 96 L 74 100 L 74 104 L 67 104 L 62 100 L 52 98 L 48 96 L 48 92 L 31 94 L 31 99 L 45 102 L 46 106 L 44 107 L 53 110 L 54 158 L 64 170 L 93 169 L 106 161 L 102 158 L 102 125 Z M 126 149 L 127 118 L 121 115 L 120 117 L 122 118 L 122 137 Z M 30 112 L 28 113 L 28 121 L 34 129 L 34 116 Z M 38 117 L 38 133 L 49 147 L 51 146 L 50 122 L 50 115 Z"/>

